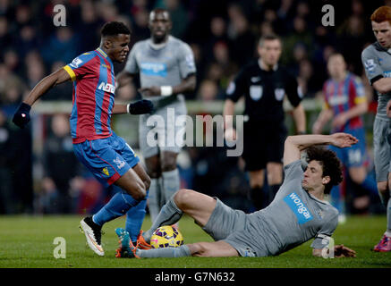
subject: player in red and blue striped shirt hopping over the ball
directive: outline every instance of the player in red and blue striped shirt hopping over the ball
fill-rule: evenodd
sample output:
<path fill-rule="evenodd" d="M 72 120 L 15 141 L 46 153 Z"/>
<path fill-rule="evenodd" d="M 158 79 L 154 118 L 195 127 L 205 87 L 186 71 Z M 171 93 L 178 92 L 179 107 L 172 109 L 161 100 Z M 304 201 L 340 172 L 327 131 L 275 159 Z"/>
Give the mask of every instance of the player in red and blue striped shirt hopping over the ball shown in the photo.
<path fill-rule="evenodd" d="M 106 23 L 101 29 L 100 46 L 39 81 L 13 116 L 13 122 L 24 128 L 30 121 L 31 105 L 50 88 L 72 80 L 70 123 L 74 153 L 106 188 L 121 189 L 97 214 L 81 220 L 89 247 L 99 256 L 105 254 L 102 225 L 126 214 L 132 207 L 143 209 L 145 214 L 150 184 L 139 157 L 110 126 L 112 114 L 148 114 L 153 109 L 149 100 L 115 105 L 113 63 L 124 62 L 130 39 L 131 31 L 122 22 Z M 134 224 L 141 226 L 143 219 L 142 215 Z"/>

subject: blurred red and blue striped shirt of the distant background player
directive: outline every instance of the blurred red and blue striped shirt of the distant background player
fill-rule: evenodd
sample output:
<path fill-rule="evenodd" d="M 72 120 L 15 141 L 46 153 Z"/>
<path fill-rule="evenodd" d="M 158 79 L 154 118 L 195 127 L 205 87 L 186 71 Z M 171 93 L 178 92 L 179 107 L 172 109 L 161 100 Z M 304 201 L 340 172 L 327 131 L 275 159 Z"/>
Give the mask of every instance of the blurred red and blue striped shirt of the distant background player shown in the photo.
<path fill-rule="evenodd" d="M 354 105 L 367 101 L 361 79 L 350 72 L 347 72 L 345 79 L 342 81 L 327 80 L 323 85 L 323 94 L 325 98 L 324 108 L 331 108 L 335 116 L 348 111 Z M 356 116 L 346 122 L 343 130 L 361 128 L 362 126 L 361 116 Z"/>

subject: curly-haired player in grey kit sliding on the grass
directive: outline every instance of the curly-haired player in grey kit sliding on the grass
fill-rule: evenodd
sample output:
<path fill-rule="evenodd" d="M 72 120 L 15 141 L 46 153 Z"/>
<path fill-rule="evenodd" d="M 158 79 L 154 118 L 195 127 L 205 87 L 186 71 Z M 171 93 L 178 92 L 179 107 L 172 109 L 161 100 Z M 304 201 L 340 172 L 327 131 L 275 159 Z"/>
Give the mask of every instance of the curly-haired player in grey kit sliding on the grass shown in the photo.
<path fill-rule="evenodd" d="M 117 257 L 268 257 L 283 253 L 303 242 L 313 240 L 316 257 L 355 257 L 355 251 L 336 245 L 328 248 L 336 230 L 338 211 L 324 200 L 333 186 L 342 181 L 341 163 L 333 151 L 316 145 L 351 147 L 358 140 L 347 133 L 333 135 L 298 135 L 285 140 L 285 180 L 276 198 L 265 209 L 252 214 L 225 206 L 191 189 L 180 189 L 157 216 L 144 242 L 159 226 L 190 215 L 215 241 L 197 242 L 179 248 L 139 249 L 129 234 L 117 229 L 121 248 Z M 303 171 L 301 152 L 306 152 Z"/>

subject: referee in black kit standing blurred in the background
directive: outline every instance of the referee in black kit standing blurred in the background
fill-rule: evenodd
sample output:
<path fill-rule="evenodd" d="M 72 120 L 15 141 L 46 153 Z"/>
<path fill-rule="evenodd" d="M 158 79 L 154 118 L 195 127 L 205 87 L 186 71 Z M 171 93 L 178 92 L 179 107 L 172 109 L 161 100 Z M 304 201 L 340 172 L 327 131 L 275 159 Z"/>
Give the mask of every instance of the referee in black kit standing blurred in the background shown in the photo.
<path fill-rule="evenodd" d="M 246 171 L 250 175 L 251 201 L 260 209 L 268 206 L 283 181 L 284 141 L 287 136 L 283 101 L 285 95 L 293 106 L 293 120 L 298 134 L 305 133 L 306 119 L 302 107 L 302 93 L 296 78 L 278 64 L 282 42 L 276 35 L 259 39 L 259 59 L 247 64 L 226 89 L 224 106 L 225 135 L 231 128 L 234 105 L 245 99 L 243 153 Z M 232 135 L 228 135 L 232 136 Z M 265 168 L 268 174 L 268 201 L 263 186 Z"/>

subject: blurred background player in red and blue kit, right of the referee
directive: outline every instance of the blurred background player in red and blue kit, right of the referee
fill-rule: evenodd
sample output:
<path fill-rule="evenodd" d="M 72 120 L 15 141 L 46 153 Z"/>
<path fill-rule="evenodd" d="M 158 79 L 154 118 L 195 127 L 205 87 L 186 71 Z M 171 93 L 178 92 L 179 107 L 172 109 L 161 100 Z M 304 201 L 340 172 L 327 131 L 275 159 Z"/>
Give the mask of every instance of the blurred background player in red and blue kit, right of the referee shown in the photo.
<path fill-rule="evenodd" d="M 359 187 L 367 189 L 368 193 L 378 193 L 375 179 L 367 173 L 365 161 L 366 140 L 361 115 L 368 110 L 367 97 L 361 79 L 346 70 L 342 54 L 330 55 L 327 62 L 330 79 L 323 86 L 324 109 L 312 126 L 312 132 L 319 134 L 326 123 L 332 120 L 331 133 L 346 132 L 359 139 L 353 147 L 339 149 L 331 147 L 347 168 L 352 181 Z M 356 189 L 356 188 L 354 188 Z M 339 222 L 345 221 L 344 192 L 341 186 L 331 190 L 333 206 L 338 209 Z"/>

